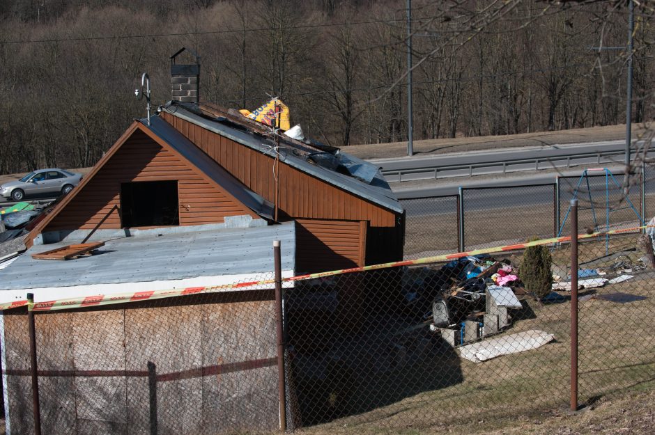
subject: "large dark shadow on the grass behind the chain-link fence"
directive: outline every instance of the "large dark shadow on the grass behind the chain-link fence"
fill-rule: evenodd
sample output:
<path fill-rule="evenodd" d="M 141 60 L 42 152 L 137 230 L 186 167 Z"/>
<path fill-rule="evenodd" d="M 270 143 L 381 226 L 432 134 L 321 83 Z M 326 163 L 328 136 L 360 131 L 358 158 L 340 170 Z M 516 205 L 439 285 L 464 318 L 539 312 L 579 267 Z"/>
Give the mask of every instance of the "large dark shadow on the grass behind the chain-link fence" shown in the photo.
<path fill-rule="evenodd" d="M 453 347 L 419 316 L 390 303 L 344 315 L 338 303 L 330 304 L 330 292 L 318 294 L 323 309 L 316 309 L 317 293 L 313 305 L 288 301 L 296 427 L 365 413 L 463 381 Z"/>

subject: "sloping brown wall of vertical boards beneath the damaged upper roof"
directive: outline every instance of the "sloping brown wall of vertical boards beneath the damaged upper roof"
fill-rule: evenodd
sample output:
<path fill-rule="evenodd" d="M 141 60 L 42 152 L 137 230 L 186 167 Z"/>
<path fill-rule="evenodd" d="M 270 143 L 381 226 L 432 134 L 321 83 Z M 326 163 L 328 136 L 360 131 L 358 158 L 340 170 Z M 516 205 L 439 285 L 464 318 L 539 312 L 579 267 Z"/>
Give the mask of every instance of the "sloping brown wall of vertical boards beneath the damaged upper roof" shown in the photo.
<path fill-rule="evenodd" d="M 270 202 L 275 201 L 272 157 L 169 113 L 164 112 L 161 116 L 252 191 Z M 298 171 L 284 162 L 279 167 L 279 178 L 280 210 L 293 219 L 369 221 L 371 226 L 396 226 L 396 214 L 393 212 Z"/>

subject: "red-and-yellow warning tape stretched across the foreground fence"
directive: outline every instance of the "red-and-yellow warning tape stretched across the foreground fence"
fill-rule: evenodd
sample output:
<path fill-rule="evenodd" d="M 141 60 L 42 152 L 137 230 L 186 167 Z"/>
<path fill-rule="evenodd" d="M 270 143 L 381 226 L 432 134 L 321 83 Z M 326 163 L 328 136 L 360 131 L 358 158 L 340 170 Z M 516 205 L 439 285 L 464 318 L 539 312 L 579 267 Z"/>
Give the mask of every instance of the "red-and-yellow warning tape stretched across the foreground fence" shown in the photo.
<path fill-rule="evenodd" d="M 633 228 L 623 228 L 620 230 L 610 230 L 606 232 L 592 232 L 591 234 L 580 234 L 578 235 L 578 239 L 591 239 L 593 237 L 599 237 L 604 235 L 614 235 L 614 234 L 622 234 L 626 232 L 635 232 L 649 227 L 654 227 L 654 226 L 639 226 Z M 417 264 L 443 262 L 447 260 L 456 260 L 457 258 L 468 257 L 471 255 L 516 251 L 518 249 L 527 248 L 529 246 L 540 246 L 540 245 L 548 245 L 548 244 L 555 244 L 555 243 L 562 243 L 562 242 L 571 242 L 571 236 L 553 237 L 551 239 L 540 239 L 540 240 L 535 240 L 534 242 L 525 242 L 521 244 L 495 246 L 493 248 L 481 248 L 481 249 L 474 249 L 472 251 L 465 251 L 459 253 L 435 255 L 433 257 L 418 258 L 416 260 L 403 260 L 403 261 L 388 262 L 382 264 L 373 264 L 371 266 L 351 267 L 349 269 L 339 269 L 334 271 L 318 272 L 316 274 L 292 276 L 290 278 L 283 278 L 282 281 L 289 283 L 289 282 L 295 282 L 300 280 L 309 280 L 313 278 L 325 278 L 327 276 L 352 274 L 355 272 L 362 272 L 362 271 L 388 269 L 390 267 L 413 266 Z M 153 299 L 163 299 L 163 298 L 169 298 L 175 296 L 188 296 L 190 294 L 211 293 L 211 292 L 215 292 L 216 290 L 231 290 L 231 289 L 239 289 L 243 287 L 268 285 L 272 283 L 275 283 L 275 279 L 248 281 L 245 283 L 231 283 L 231 284 L 224 284 L 224 285 L 211 285 L 207 287 L 186 287 L 183 289 L 172 289 L 172 290 L 152 290 L 147 292 L 130 292 L 130 293 L 107 294 L 107 295 L 99 294 L 95 296 L 59 299 L 56 301 L 45 301 L 45 302 L 37 302 L 37 303 L 29 303 L 26 300 L 22 300 L 22 301 L 2 303 L 0 304 L 0 310 L 10 310 L 12 308 L 19 308 L 22 306 L 27 306 L 28 310 L 31 311 L 68 310 L 71 308 L 105 306 L 105 305 L 114 305 L 116 303 L 149 301 Z"/>

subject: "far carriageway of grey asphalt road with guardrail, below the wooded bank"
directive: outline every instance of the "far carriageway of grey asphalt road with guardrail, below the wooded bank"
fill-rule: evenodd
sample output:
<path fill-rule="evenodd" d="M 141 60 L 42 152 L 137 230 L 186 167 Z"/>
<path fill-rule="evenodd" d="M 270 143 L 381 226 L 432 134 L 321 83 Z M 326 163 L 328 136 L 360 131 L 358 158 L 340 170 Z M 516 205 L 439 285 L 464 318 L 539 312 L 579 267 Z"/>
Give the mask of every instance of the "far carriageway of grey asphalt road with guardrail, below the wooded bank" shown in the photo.
<path fill-rule="evenodd" d="M 635 143 L 635 147 L 640 146 Z M 574 143 L 444 155 L 371 159 L 389 182 L 537 171 L 572 166 L 608 166 L 624 161 L 624 141 Z M 636 152 L 636 149 L 633 150 Z M 655 152 L 649 152 L 655 157 Z"/>

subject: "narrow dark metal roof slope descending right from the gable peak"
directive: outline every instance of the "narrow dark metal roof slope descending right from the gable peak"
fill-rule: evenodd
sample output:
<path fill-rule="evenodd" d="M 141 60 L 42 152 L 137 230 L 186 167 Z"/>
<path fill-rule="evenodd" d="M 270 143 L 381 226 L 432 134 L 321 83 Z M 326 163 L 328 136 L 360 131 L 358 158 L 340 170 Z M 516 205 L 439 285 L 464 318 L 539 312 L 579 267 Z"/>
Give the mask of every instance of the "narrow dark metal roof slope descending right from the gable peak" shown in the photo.
<path fill-rule="evenodd" d="M 245 184 L 242 184 L 242 182 L 233 177 L 231 173 L 202 152 L 202 150 L 174 129 L 168 122 L 157 116 L 151 117 L 150 126 L 148 126 L 148 120 L 146 119 L 139 120 L 139 122 L 141 122 L 144 128 L 150 129 L 153 134 L 157 135 L 162 141 L 180 153 L 182 157 L 190 161 L 192 165 L 199 168 L 200 171 L 205 173 L 240 203 L 252 209 L 259 216 L 270 220 L 273 219 L 272 203 L 248 189 Z"/>

